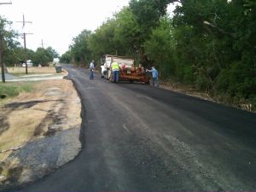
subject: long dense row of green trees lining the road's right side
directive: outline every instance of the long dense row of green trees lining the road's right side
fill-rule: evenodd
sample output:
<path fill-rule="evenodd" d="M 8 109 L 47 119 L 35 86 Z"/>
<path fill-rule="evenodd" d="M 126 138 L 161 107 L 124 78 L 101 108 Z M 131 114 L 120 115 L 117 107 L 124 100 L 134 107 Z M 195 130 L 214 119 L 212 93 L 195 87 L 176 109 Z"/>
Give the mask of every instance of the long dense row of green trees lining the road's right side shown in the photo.
<path fill-rule="evenodd" d="M 173 15 L 166 14 L 170 3 L 177 3 Z M 130 56 L 157 67 L 160 79 L 255 106 L 255 13 L 253 0 L 131 0 L 96 31 L 73 38 L 61 61 Z"/>

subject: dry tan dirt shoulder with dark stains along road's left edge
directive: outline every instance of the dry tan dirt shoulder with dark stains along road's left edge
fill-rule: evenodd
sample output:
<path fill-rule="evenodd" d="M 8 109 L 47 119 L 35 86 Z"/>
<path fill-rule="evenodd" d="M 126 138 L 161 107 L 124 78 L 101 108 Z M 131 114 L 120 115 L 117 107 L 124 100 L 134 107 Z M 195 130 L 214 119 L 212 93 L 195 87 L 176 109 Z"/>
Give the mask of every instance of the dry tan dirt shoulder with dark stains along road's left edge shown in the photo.
<path fill-rule="evenodd" d="M 0 104 L 0 191 L 31 182 L 79 154 L 81 102 L 73 82 L 45 80 Z"/>

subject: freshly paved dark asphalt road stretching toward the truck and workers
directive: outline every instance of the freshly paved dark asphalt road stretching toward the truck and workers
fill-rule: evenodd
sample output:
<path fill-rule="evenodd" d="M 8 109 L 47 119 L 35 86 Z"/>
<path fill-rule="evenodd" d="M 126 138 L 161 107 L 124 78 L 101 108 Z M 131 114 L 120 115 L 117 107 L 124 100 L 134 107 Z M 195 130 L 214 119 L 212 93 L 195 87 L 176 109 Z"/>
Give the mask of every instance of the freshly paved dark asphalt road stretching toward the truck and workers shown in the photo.
<path fill-rule="evenodd" d="M 256 114 L 67 67 L 83 149 L 20 191 L 255 190 Z"/>

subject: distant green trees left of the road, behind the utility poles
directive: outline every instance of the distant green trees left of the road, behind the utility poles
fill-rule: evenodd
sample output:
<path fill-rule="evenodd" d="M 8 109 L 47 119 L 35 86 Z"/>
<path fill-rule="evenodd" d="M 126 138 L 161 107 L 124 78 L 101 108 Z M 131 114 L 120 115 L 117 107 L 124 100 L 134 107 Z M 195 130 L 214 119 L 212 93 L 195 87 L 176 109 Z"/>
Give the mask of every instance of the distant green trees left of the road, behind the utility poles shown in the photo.
<path fill-rule="evenodd" d="M 36 51 L 25 49 L 18 41 L 19 33 L 11 29 L 12 22 L 0 15 L 0 37 L 2 38 L 1 52 L 5 66 L 19 65 L 26 60 L 31 60 L 35 66 L 48 66 L 50 61 L 59 57 L 59 54 L 52 47 L 38 48 Z"/>

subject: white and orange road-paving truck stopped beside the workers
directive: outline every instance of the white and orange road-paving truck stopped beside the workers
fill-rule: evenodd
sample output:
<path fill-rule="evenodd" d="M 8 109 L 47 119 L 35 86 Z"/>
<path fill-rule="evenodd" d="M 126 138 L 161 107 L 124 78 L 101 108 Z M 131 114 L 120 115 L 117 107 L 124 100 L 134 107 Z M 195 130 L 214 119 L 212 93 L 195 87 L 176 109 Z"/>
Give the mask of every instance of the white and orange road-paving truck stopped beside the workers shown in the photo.
<path fill-rule="evenodd" d="M 102 59 L 102 77 L 112 81 L 111 63 L 115 61 L 119 64 L 119 81 L 142 82 L 149 84 L 148 74 L 140 64 L 135 67 L 134 60 L 125 56 L 104 55 Z"/>

